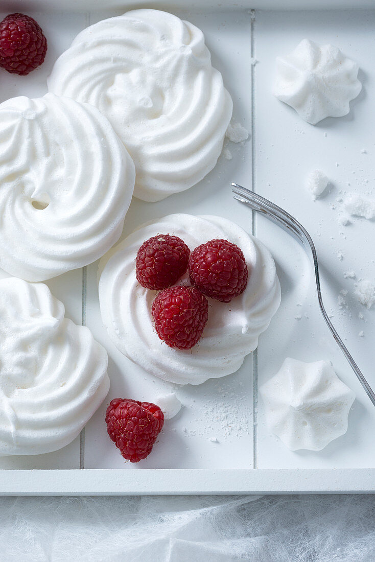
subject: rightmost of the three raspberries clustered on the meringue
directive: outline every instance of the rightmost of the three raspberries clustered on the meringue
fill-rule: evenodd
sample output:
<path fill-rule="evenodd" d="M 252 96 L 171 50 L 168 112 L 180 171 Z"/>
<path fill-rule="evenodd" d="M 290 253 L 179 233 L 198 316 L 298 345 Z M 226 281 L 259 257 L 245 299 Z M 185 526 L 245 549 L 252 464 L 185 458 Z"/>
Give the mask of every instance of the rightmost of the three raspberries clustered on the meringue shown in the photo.
<path fill-rule="evenodd" d="M 192 251 L 191 283 L 207 297 L 229 302 L 245 291 L 247 270 L 242 250 L 228 240 L 210 240 Z"/>

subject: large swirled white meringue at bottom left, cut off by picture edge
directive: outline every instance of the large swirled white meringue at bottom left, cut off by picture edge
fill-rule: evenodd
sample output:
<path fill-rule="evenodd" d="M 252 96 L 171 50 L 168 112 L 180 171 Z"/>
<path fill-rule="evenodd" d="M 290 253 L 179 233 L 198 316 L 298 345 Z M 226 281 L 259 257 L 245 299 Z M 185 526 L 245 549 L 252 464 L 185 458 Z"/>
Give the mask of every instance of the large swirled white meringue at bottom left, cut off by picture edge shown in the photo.
<path fill-rule="evenodd" d="M 47 285 L 0 280 L 0 456 L 64 447 L 109 390 L 108 356 Z"/>

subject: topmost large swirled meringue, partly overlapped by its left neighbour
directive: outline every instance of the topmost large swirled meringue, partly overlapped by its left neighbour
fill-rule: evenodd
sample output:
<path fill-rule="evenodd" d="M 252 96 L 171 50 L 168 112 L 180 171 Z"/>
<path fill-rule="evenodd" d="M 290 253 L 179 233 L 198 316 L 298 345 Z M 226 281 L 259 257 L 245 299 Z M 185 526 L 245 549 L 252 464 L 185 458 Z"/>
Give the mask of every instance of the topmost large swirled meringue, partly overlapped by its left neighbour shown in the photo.
<path fill-rule="evenodd" d="M 159 10 L 133 10 L 81 31 L 57 59 L 48 89 L 108 117 L 134 160 L 134 196 L 143 201 L 204 178 L 232 116 L 202 31 Z"/>

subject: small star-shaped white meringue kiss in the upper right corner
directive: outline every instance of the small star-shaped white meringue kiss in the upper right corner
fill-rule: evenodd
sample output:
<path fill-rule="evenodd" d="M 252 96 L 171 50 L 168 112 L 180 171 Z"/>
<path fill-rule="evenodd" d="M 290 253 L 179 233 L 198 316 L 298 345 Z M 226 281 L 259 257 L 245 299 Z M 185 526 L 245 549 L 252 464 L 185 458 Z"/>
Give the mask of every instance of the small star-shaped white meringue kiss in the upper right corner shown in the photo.
<path fill-rule="evenodd" d="M 333 45 L 303 39 L 286 57 L 277 57 L 273 93 L 312 125 L 325 117 L 341 117 L 362 84 L 358 64 Z"/>

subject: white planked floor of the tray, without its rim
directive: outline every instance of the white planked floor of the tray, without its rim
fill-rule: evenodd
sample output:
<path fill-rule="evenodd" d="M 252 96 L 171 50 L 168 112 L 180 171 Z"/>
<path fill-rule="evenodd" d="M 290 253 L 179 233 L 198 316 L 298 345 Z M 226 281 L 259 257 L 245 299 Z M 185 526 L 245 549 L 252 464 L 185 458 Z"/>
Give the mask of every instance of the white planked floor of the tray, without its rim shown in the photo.
<path fill-rule="evenodd" d="M 231 181 L 236 181 L 251 187 L 254 175 L 257 192 L 295 214 L 308 228 L 322 265 L 323 297 L 327 309 L 330 314 L 332 309 L 332 320 L 338 331 L 375 386 L 375 375 L 371 369 L 375 313 L 354 301 L 354 281 L 344 279 L 344 272 L 348 270 L 356 271 L 358 277 L 374 279 L 375 266 L 370 249 L 373 248 L 374 224 L 354 220 L 350 226 L 339 226 L 337 216 L 341 203 L 336 201 L 340 191 L 371 192 L 374 187 L 375 97 L 372 92 L 375 12 L 255 12 L 253 37 L 251 14 L 247 9 L 209 13 L 184 10 L 175 13 L 204 31 L 214 65 L 222 71 L 225 85 L 233 96 L 234 118 L 249 130 L 254 125 L 253 135 L 244 146 L 231 144 L 232 160 L 220 157 L 215 169 L 188 192 L 176 194 L 160 203 L 133 200 L 125 221 L 124 235 L 153 217 L 181 210 L 192 214 L 223 215 L 251 232 L 251 212 L 232 199 L 229 185 Z M 58 17 L 56 13 L 35 14 L 48 36 L 47 60 L 41 69 L 26 79 L 2 72 L 0 100 L 21 94 L 43 95 L 46 92 L 46 76 L 58 54 L 69 46 L 80 29 L 109 15 L 112 13 L 58 13 Z M 332 42 L 358 60 L 364 89 L 351 104 L 349 116 L 326 119 L 313 127 L 272 97 L 270 89 L 275 56 L 290 52 L 304 37 L 322 43 Z M 252 42 L 254 55 L 259 61 L 255 67 L 250 61 Z M 252 73 L 254 83 L 251 81 Z M 252 105 L 255 108 L 253 119 Z M 255 148 L 254 162 L 252 144 Z M 366 154 L 360 153 L 363 148 Z M 306 174 L 317 167 L 331 178 L 332 188 L 326 198 L 312 202 L 303 183 Z M 336 208 L 332 209 L 332 206 Z M 357 394 L 346 436 L 337 439 L 326 450 L 314 453 L 292 453 L 284 448 L 266 429 L 259 402 L 255 424 L 255 466 L 372 467 L 375 462 L 372 446 L 375 411 L 320 318 L 310 264 L 295 242 L 262 217 L 256 218 L 255 230 L 275 256 L 283 291 L 281 308 L 268 331 L 260 338 L 255 371 L 259 383 L 272 376 L 288 355 L 305 361 L 327 358 L 332 360 L 338 375 Z M 344 255 L 342 261 L 337 257 L 339 251 Z M 171 385 L 133 365 L 107 338 L 98 308 L 96 271 L 97 264 L 87 268 L 84 319 L 94 336 L 109 351 L 109 400 L 127 395 L 152 401 L 163 391 L 169 391 Z M 82 274 L 82 270 L 78 270 L 48 282 L 53 293 L 65 303 L 66 315 L 77 323 L 82 320 Z M 340 310 L 337 305 L 338 293 L 343 288 L 349 291 L 348 310 Z M 297 306 L 297 303 L 302 306 Z M 359 311 L 363 313 L 364 320 L 358 318 Z M 296 319 L 298 315 L 302 316 L 300 320 Z M 361 330 L 364 330 L 363 338 L 358 336 Z M 103 405 L 85 428 L 82 464 L 85 468 L 139 470 L 142 467 L 251 468 L 252 375 L 253 357 L 249 356 L 237 374 L 209 380 L 199 387 L 173 386 L 183 408 L 165 425 L 159 443 L 142 466 L 125 464 L 107 438 L 103 422 L 106 404 Z M 216 438 L 218 442 L 212 442 L 210 438 Z M 79 448 L 78 438 L 70 446 L 49 455 L 2 459 L 0 468 L 78 468 Z"/>

